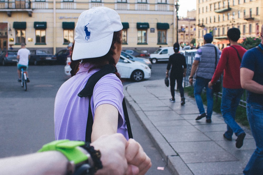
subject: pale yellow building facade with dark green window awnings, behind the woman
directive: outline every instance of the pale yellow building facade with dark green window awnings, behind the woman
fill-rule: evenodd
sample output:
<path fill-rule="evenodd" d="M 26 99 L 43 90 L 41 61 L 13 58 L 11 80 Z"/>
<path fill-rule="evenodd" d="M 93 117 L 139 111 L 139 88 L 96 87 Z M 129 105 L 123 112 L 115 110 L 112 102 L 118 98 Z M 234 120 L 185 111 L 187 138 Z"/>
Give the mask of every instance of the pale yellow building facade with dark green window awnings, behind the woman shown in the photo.
<path fill-rule="evenodd" d="M 92 7 L 116 10 L 123 22 L 123 48 L 148 51 L 172 46 L 175 7 L 170 0 L 4 0 L 0 1 L 0 46 L 48 49 L 53 53 L 73 42 L 80 13 Z"/>

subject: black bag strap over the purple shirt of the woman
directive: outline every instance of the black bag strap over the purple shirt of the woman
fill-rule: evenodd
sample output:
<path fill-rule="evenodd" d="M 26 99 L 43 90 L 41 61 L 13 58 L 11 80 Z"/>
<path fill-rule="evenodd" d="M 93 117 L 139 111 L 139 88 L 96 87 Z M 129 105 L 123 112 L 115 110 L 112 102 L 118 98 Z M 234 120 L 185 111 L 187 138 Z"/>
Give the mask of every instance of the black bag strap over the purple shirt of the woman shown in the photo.
<path fill-rule="evenodd" d="M 94 86 L 95 84 L 102 78 L 103 76 L 109 74 L 109 73 L 114 73 L 115 72 L 115 67 L 112 65 L 104 65 L 101 70 L 98 72 L 94 73 L 90 78 L 88 79 L 88 82 L 86 83 L 85 87 L 80 91 L 78 94 L 79 97 L 89 97 L 89 111 L 88 111 L 88 119 L 87 119 L 87 125 L 86 125 L 86 136 L 85 136 L 85 141 L 91 142 L 91 133 L 92 133 L 92 125 L 93 125 L 93 115 L 91 112 L 91 106 L 90 106 L 90 98 L 93 94 Z M 124 119 L 126 121 L 127 125 L 127 130 L 128 130 L 128 135 L 129 138 L 133 138 L 132 133 L 131 133 L 131 127 L 130 127 L 130 121 L 129 121 L 129 116 L 127 112 L 127 107 L 125 103 L 125 99 L 123 98 L 123 111 L 124 111 Z"/>

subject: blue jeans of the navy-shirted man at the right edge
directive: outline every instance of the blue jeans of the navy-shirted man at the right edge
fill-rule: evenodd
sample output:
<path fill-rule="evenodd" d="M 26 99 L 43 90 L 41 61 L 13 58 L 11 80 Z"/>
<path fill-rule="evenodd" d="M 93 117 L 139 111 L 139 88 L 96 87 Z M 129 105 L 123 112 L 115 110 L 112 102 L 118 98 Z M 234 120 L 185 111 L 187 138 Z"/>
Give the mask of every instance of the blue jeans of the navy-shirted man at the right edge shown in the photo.
<path fill-rule="evenodd" d="M 243 173 L 259 175 L 263 173 L 263 106 L 258 103 L 247 103 L 247 119 L 257 148 Z"/>

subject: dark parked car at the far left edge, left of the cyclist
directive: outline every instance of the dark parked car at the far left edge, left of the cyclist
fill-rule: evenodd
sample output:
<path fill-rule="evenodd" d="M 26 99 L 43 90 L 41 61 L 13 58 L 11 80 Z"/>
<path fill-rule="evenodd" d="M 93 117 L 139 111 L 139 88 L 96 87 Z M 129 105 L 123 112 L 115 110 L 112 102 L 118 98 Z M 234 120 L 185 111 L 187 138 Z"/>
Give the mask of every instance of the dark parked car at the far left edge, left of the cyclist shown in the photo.
<path fill-rule="evenodd" d="M 11 63 L 17 63 L 17 50 L 2 50 L 0 52 L 0 61 L 3 66 Z"/>

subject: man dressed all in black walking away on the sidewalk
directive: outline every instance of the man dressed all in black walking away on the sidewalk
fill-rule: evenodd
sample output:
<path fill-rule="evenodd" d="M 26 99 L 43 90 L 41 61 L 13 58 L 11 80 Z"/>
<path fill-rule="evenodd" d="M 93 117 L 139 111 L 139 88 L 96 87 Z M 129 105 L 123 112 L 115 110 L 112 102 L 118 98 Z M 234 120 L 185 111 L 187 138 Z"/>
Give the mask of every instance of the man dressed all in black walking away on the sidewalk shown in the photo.
<path fill-rule="evenodd" d="M 181 95 L 181 105 L 185 104 L 185 98 L 184 98 L 184 88 L 182 86 L 183 84 L 183 77 L 186 76 L 186 60 L 185 56 L 178 53 L 179 52 L 180 45 L 178 43 L 174 44 L 174 54 L 169 57 L 169 62 L 167 65 L 166 70 L 166 77 L 169 76 L 169 70 L 171 68 L 170 72 L 170 88 L 171 88 L 171 95 L 172 98 L 170 98 L 171 102 L 175 102 L 174 98 L 174 87 L 175 87 L 175 80 L 177 82 L 177 89 L 180 91 Z"/>

